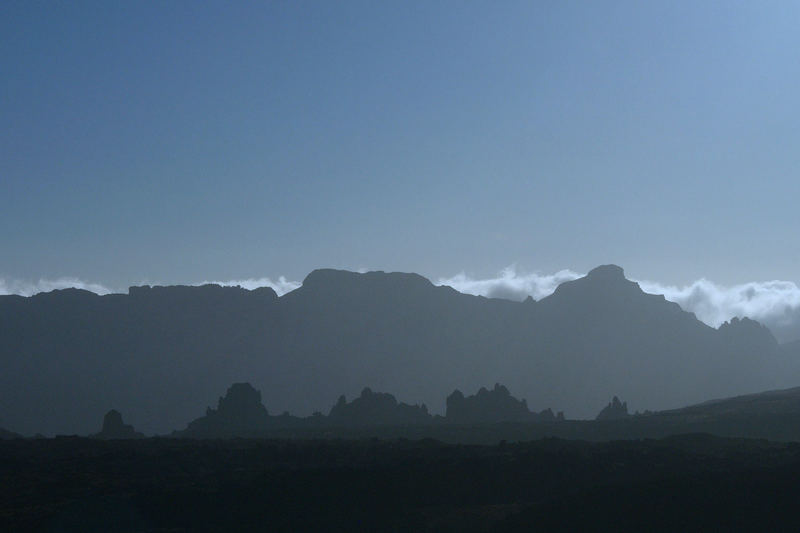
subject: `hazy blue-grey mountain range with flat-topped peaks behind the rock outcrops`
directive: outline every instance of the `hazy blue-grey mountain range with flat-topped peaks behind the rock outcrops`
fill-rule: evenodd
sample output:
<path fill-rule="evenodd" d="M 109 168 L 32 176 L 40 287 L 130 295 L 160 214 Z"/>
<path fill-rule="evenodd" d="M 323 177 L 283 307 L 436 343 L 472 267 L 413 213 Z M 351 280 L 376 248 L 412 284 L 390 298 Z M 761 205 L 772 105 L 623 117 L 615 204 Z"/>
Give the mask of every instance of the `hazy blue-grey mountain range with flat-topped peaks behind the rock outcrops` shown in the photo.
<path fill-rule="evenodd" d="M 710 328 L 616 266 L 538 302 L 335 270 L 280 298 L 213 285 L 0 297 L 0 413 L 24 434 L 86 434 L 111 405 L 166 433 L 240 381 L 300 416 L 364 385 L 443 413 L 443 391 L 501 382 L 532 411 L 588 418 L 612 393 L 658 410 L 792 386 L 798 360 L 800 345 L 749 320 Z"/>

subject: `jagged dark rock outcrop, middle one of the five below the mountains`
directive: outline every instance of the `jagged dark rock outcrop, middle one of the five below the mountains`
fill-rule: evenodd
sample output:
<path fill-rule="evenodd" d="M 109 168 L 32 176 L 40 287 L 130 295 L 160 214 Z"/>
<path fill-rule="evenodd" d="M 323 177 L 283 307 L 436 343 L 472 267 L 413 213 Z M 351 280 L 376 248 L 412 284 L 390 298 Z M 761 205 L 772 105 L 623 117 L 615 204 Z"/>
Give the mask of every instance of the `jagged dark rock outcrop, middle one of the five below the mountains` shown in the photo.
<path fill-rule="evenodd" d="M 327 423 L 342 426 L 406 426 L 430 424 L 431 415 L 423 405 L 398 403 L 385 392 L 372 392 L 369 387 L 361 396 L 347 403 L 344 395 L 331 408 Z"/>

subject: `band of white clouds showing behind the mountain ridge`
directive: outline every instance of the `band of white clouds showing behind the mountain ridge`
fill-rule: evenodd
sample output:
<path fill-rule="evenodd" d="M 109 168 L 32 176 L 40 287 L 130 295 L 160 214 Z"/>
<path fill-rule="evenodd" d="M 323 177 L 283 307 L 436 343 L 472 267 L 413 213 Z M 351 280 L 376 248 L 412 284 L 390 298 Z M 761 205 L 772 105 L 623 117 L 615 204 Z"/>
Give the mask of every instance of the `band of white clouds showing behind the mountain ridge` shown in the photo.
<path fill-rule="evenodd" d="M 513 266 L 503 269 L 492 278 L 477 279 L 460 273 L 451 278 L 439 278 L 436 285 L 449 285 L 457 291 L 490 298 L 522 301 L 528 296 L 540 300 L 555 291 L 559 284 L 581 277 L 572 270 L 554 274 L 521 273 Z M 216 283 L 226 287 L 240 286 L 253 290 L 272 287 L 279 296 L 300 287 L 299 281 L 284 276 L 250 278 L 228 281 L 204 281 L 195 285 Z M 733 317 L 750 317 L 768 326 L 781 341 L 800 339 L 800 287 L 791 281 L 754 281 L 741 285 L 719 285 L 700 279 L 690 285 L 677 287 L 653 281 L 638 281 L 642 290 L 663 294 L 667 300 L 693 312 L 706 324 L 718 327 Z M 112 289 L 99 283 L 77 278 L 40 279 L 19 281 L 0 278 L 0 295 L 19 294 L 31 296 L 40 292 L 75 287 L 97 294 L 109 294 Z M 124 291 L 123 291 L 124 292 Z"/>

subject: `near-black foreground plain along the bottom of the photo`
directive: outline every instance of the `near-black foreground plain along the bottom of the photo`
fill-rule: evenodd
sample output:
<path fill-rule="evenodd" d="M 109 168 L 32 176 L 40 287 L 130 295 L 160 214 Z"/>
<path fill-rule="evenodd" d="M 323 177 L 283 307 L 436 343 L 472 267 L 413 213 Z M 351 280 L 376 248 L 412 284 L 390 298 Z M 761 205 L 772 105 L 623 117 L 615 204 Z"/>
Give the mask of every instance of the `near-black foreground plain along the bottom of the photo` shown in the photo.
<path fill-rule="evenodd" d="M 0 531 L 778 531 L 800 444 L 0 442 Z"/>

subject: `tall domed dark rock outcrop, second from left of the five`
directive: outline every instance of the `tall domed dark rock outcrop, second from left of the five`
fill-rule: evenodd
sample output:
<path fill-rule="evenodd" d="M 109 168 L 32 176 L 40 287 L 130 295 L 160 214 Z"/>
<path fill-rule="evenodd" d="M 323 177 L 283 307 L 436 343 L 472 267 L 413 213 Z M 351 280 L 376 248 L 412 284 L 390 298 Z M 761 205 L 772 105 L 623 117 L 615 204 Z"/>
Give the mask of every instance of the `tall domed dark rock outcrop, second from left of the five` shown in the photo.
<path fill-rule="evenodd" d="M 270 417 L 261 392 L 249 383 L 234 383 L 206 416 L 189 422 L 185 436 L 233 437 L 252 435 L 269 427 Z"/>

